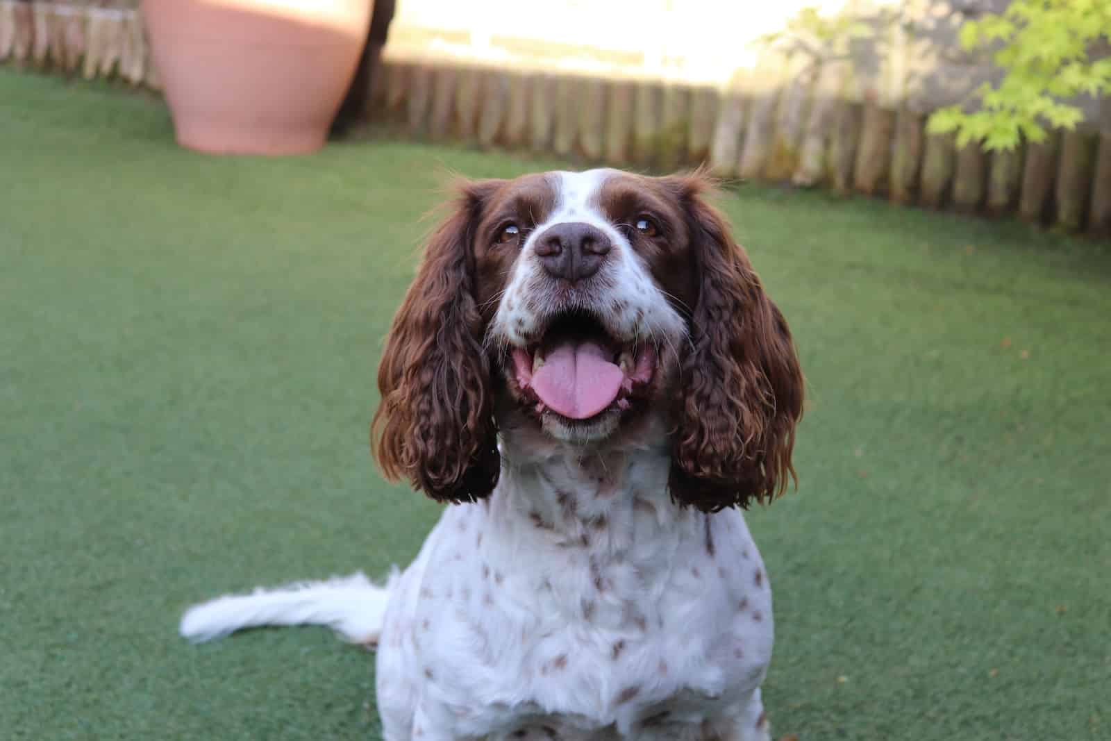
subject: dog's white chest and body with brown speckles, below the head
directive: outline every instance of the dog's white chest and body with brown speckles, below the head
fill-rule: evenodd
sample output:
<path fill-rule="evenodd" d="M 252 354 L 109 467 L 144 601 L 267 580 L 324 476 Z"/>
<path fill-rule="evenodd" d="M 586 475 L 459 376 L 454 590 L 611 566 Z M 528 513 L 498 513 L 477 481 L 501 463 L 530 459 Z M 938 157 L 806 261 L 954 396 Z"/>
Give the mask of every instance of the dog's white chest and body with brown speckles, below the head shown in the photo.
<path fill-rule="evenodd" d="M 388 741 L 749 738 L 772 620 L 740 512 L 675 507 L 662 450 L 502 452 L 391 590 Z"/>

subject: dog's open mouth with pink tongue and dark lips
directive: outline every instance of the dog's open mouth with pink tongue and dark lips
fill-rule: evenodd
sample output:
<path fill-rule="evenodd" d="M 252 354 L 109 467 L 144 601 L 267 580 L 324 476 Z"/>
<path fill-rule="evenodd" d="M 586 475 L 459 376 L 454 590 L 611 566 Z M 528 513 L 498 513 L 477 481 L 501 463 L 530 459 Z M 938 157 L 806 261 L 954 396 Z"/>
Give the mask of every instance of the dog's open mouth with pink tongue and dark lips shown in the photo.
<path fill-rule="evenodd" d="M 618 340 L 580 311 L 556 317 L 540 342 L 512 352 L 517 383 L 536 398 L 537 412 L 569 420 L 628 409 L 651 382 L 655 360 L 650 342 Z"/>

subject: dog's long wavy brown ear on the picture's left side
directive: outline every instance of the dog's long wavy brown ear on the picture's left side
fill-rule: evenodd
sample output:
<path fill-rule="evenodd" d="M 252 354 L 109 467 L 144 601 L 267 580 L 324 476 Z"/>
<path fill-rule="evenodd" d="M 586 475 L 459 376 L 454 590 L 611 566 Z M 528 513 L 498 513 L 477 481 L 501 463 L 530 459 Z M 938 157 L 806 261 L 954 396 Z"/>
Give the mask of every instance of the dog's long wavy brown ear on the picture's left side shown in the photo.
<path fill-rule="evenodd" d="M 390 480 L 474 501 L 498 483 L 490 360 L 474 301 L 474 229 L 497 181 L 466 183 L 393 318 L 378 369 L 373 453 Z"/>

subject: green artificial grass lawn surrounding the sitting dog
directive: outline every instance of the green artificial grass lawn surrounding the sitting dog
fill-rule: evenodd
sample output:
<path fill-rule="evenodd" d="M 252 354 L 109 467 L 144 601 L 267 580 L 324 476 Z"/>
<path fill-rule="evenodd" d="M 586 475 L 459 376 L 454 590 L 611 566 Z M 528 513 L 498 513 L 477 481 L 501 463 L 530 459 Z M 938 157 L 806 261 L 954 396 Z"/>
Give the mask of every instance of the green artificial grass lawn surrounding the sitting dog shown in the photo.
<path fill-rule="evenodd" d="M 189 603 L 412 558 L 368 453 L 448 172 L 396 141 L 174 147 L 161 102 L 0 70 L 0 738 L 374 739 L 321 629 L 193 647 Z M 1111 738 L 1111 258 L 820 193 L 722 199 L 794 329 L 798 491 L 749 515 L 775 737 Z"/>

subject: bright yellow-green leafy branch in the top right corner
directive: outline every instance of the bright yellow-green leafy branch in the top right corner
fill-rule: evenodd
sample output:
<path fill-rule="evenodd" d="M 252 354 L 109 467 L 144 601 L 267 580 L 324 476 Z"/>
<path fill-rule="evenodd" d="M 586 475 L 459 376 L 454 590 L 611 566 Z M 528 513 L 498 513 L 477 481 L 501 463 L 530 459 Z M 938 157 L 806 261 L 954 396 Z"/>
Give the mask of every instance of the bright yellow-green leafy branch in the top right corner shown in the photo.
<path fill-rule="evenodd" d="M 935 111 L 931 133 L 957 132 L 957 143 L 987 150 L 1014 149 L 1022 138 L 1045 139 L 1045 126 L 1072 129 L 1083 111 L 1067 99 L 1111 92 L 1111 58 L 1093 60 L 1092 46 L 1111 40 L 1111 0 L 1013 0 L 1005 11 L 967 21 L 965 49 L 998 48 L 992 59 L 1005 70 L 998 87 L 977 91 L 982 106 Z"/>

